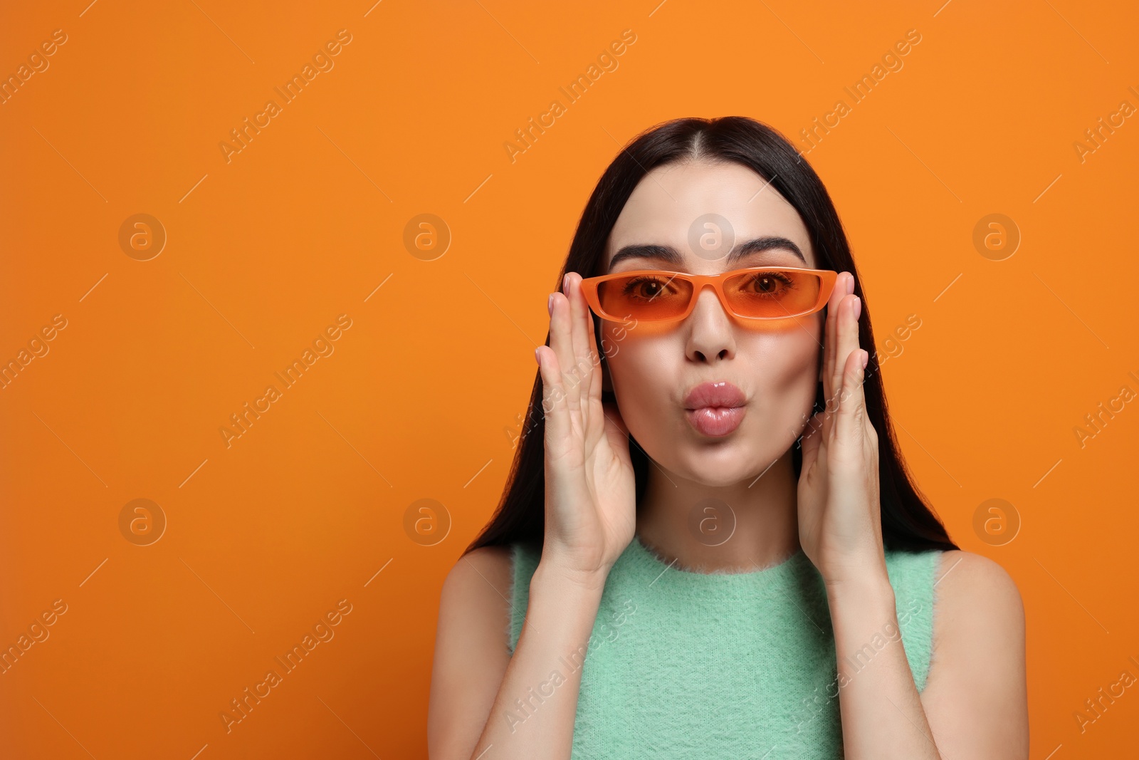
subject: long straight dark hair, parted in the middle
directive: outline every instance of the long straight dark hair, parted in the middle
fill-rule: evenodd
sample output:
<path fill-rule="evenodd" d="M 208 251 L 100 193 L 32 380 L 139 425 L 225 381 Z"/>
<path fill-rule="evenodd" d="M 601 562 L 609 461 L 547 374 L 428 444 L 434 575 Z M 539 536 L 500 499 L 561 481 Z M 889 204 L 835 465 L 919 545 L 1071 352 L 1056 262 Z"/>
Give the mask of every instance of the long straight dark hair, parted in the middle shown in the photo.
<path fill-rule="evenodd" d="M 862 278 L 851 258 L 838 213 L 818 174 L 777 130 L 745 116 L 723 116 L 677 119 L 638 134 L 613 160 L 593 188 L 552 291 L 560 289 L 562 278 L 566 272 L 579 272 L 582 277 L 603 273 L 599 270 L 605 263 L 606 242 L 633 188 L 653 169 L 685 160 L 735 162 L 753 170 L 770 182 L 803 219 L 811 236 L 817 267 L 854 275 L 854 293 L 862 299 L 859 345 L 870 354 L 862 390 L 867 414 L 878 433 L 883 544 L 886 549 L 906 551 L 957 549 L 958 546 L 950 540 L 944 525 L 926 504 L 902 460 L 886 410 L 882 375 L 878 373 L 878 357 L 870 329 L 870 308 L 862 294 Z M 600 320 L 595 319 L 598 329 L 599 322 Z M 546 345 L 549 344 L 550 336 L 547 333 Z M 600 340 L 598 346 L 603 346 Z M 822 410 L 825 403 L 820 382 L 814 410 Z M 526 418 L 502 499 L 494 516 L 464 554 L 482 546 L 501 546 L 516 541 L 539 547 L 542 545 L 546 523 L 544 439 L 542 379 L 541 374 L 535 370 L 534 387 L 530 394 Z M 632 435 L 629 443 L 639 506 L 648 481 L 649 460 Z M 793 448 L 792 458 L 797 477 L 802 471 L 803 456 L 798 444 Z"/>

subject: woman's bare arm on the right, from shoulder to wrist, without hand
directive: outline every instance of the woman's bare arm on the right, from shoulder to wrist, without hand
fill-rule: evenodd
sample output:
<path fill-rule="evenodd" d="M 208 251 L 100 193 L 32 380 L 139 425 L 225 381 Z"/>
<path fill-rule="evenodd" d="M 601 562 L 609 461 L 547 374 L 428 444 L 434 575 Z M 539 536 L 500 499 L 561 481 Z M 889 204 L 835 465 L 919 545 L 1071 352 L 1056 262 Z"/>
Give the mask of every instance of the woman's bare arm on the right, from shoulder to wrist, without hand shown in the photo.
<path fill-rule="evenodd" d="M 985 557 L 948 551 L 942 559 L 935 656 L 920 695 L 901 640 L 880 649 L 875 644 L 882 631 L 888 639 L 888 631 L 898 630 L 888 579 L 828 587 L 847 758 L 1027 760 L 1019 593 Z"/>

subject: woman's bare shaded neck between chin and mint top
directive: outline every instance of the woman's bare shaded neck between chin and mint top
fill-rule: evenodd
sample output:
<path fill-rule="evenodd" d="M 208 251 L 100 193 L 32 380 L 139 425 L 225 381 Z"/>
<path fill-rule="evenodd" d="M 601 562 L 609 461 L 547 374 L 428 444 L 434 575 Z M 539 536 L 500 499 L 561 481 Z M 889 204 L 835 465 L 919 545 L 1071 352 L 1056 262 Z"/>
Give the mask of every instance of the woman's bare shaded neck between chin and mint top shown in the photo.
<path fill-rule="evenodd" d="M 760 472 L 706 485 L 650 464 L 637 534 L 680 569 L 751 572 L 786 559 L 800 549 L 792 451 Z"/>

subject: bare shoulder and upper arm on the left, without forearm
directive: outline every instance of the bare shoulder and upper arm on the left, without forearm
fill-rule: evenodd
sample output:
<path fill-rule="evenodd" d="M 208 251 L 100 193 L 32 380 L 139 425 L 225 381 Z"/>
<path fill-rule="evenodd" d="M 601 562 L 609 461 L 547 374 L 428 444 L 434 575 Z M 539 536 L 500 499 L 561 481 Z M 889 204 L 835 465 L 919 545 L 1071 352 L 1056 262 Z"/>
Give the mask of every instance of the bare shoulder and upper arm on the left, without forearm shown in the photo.
<path fill-rule="evenodd" d="M 443 581 L 432 663 L 427 745 L 432 758 L 469 757 L 510 663 L 511 553 L 480 547 Z"/>

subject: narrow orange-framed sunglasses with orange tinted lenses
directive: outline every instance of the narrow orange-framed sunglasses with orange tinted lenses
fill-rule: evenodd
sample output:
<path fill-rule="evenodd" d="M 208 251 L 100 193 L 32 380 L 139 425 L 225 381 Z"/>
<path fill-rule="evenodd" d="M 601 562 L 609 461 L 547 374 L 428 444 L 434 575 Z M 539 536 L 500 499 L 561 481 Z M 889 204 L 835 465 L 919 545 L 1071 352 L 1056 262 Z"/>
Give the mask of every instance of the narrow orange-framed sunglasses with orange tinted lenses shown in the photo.
<path fill-rule="evenodd" d="M 675 321 L 696 308 L 696 295 L 712 286 L 724 310 L 741 319 L 787 319 L 819 311 L 830 299 L 838 272 L 795 267 L 748 267 L 719 275 L 638 269 L 581 281 L 590 309 L 601 319 Z"/>

